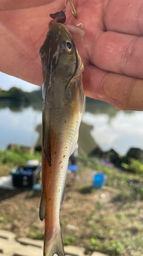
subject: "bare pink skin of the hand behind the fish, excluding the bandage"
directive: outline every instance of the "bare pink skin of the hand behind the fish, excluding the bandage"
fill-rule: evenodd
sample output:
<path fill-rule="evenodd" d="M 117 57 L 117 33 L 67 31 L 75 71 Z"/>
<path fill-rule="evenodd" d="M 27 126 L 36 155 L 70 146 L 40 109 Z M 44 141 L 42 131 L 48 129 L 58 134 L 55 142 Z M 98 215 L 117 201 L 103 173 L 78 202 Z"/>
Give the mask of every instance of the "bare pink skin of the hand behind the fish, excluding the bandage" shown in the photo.
<path fill-rule="evenodd" d="M 66 23 L 82 23 L 85 30 L 82 39 L 72 34 L 84 65 L 84 94 L 120 105 L 127 76 L 143 79 L 143 0 L 73 0 L 73 4 L 77 19 L 68 2 Z M 64 7 L 64 0 L 0 0 L 0 71 L 42 86 L 39 49 L 49 14 Z M 110 72 L 121 78 L 117 87 Z M 109 89 L 108 84 L 104 88 L 107 76 Z M 116 92 L 108 93 L 114 88 Z"/>

